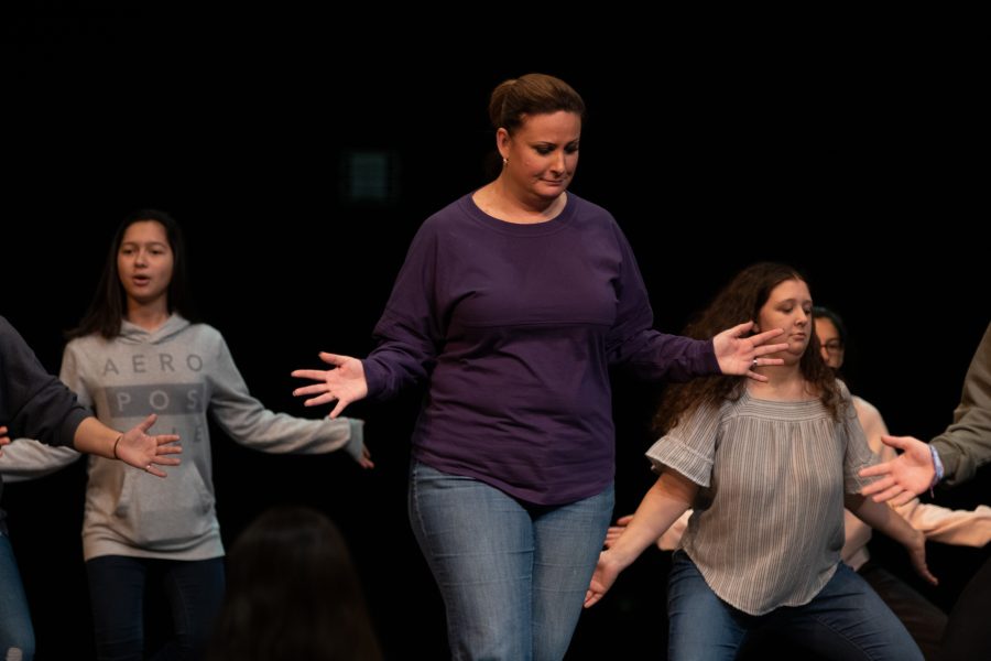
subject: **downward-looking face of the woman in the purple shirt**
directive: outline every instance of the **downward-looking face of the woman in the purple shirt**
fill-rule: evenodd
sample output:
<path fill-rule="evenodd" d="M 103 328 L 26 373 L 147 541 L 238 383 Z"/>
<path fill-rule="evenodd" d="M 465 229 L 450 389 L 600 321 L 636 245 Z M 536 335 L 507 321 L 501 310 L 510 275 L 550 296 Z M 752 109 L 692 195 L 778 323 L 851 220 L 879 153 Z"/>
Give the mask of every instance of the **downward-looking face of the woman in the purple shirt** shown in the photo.
<path fill-rule="evenodd" d="M 581 118 L 566 110 L 526 116 L 512 133 L 499 129 L 502 176 L 522 197 L 555 199 L 575 175 L 580 137 Z"/>

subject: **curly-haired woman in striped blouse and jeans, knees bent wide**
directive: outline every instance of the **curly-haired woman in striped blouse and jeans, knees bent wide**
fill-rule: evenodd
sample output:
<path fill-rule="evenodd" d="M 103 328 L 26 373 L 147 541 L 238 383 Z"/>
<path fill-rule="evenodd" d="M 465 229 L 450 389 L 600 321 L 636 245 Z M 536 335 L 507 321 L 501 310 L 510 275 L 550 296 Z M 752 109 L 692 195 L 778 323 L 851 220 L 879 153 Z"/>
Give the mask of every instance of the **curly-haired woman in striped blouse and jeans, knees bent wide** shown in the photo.
<path fill-rule="evenodd" d="M 747 635 L 773 627 L 837 659 L 921 660 L 905 627 L 840 562 L 843 507 L 910 552 L 935 583 L 925 540 L 886 506 L 863 498 L 873 463 L 846 387 L 824 362 L 805 279 L 783 264 L 740 272 L 686 329 L 753 319 L 782 328 L 784 364 L 766 382 L 709 377 L 673 388 L 666 434 L 647 451 L 661 476 L 630 525 L 600 555 L 586 598 L 598 602 L 689 507 L 668 578 L 672 660 L 733 659 Z M 732 321 L 736 319 L 736 321 Z"/>

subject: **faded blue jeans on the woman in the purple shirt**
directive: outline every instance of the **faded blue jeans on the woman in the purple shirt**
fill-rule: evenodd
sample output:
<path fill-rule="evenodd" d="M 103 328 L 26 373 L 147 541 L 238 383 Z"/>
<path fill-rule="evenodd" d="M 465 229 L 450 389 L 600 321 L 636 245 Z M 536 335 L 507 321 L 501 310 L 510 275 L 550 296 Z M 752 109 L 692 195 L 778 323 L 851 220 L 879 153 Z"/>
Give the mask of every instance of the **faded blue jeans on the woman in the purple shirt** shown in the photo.
<path fill-rule="evenodd" d="M 413 462 L 410 521 L 447 611 L 453 659 L 558 661 L 581 614 L 610 485 L 547 507 Z"/>

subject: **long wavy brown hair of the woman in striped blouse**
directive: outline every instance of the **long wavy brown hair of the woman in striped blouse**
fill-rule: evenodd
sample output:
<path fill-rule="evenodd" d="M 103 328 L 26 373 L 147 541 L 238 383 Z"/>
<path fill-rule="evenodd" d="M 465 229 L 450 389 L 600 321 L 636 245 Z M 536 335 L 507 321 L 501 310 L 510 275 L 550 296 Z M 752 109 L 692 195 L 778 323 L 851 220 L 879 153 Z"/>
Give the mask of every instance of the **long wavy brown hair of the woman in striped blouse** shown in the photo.
<path fill-rule="evenodd" d="M 683 335 L 707 339 L 743 322 L 756 322 L 761 307 L 767 302 L 775 286 L 786 280 L 806 278 L 797 269 L 774 262 L 760 262 L 740 271 L 698 317 L 690 322 Z M 770 328 L 762 328 L 770 330 Z M 753 334 L 753 333 L 751 333 Z M 832 370 L 823 360 L 815 327 L 809 328 L 808 346 L 798 362 L 798 369 L 812 392 L 817 392 L 823 405 L 834 419 L 839 420 L 840 390 Z M 775 342 L 775 340 L 772 340 Z M 662 434 L 667 433 L 683 418 L 688 418 L 703 404 L 720 407 L 725 401 L 737 401 L 743 395 L 747 379 L 739 377 L 706 377 L 668 388 L 654 424 Z"/>

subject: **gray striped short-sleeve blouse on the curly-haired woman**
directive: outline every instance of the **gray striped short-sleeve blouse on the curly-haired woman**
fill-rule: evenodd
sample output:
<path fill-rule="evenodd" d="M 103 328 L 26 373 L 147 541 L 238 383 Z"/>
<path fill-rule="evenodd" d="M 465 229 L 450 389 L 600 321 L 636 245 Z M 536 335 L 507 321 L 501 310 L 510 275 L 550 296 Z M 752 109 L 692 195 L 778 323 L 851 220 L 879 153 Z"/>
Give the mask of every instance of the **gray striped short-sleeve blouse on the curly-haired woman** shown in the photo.
<path fill-rule="evenodd" d="M 870 480 L 876 459 L 850 395 L 841 422 L 818 400 L 782 402 L 745 392 L 718 411 L 699 408 L 646 455 L 699 487 L 682 548 L 725 602 L 762 615 L 807 604 L 836 571 L 843 492 Z"/>

